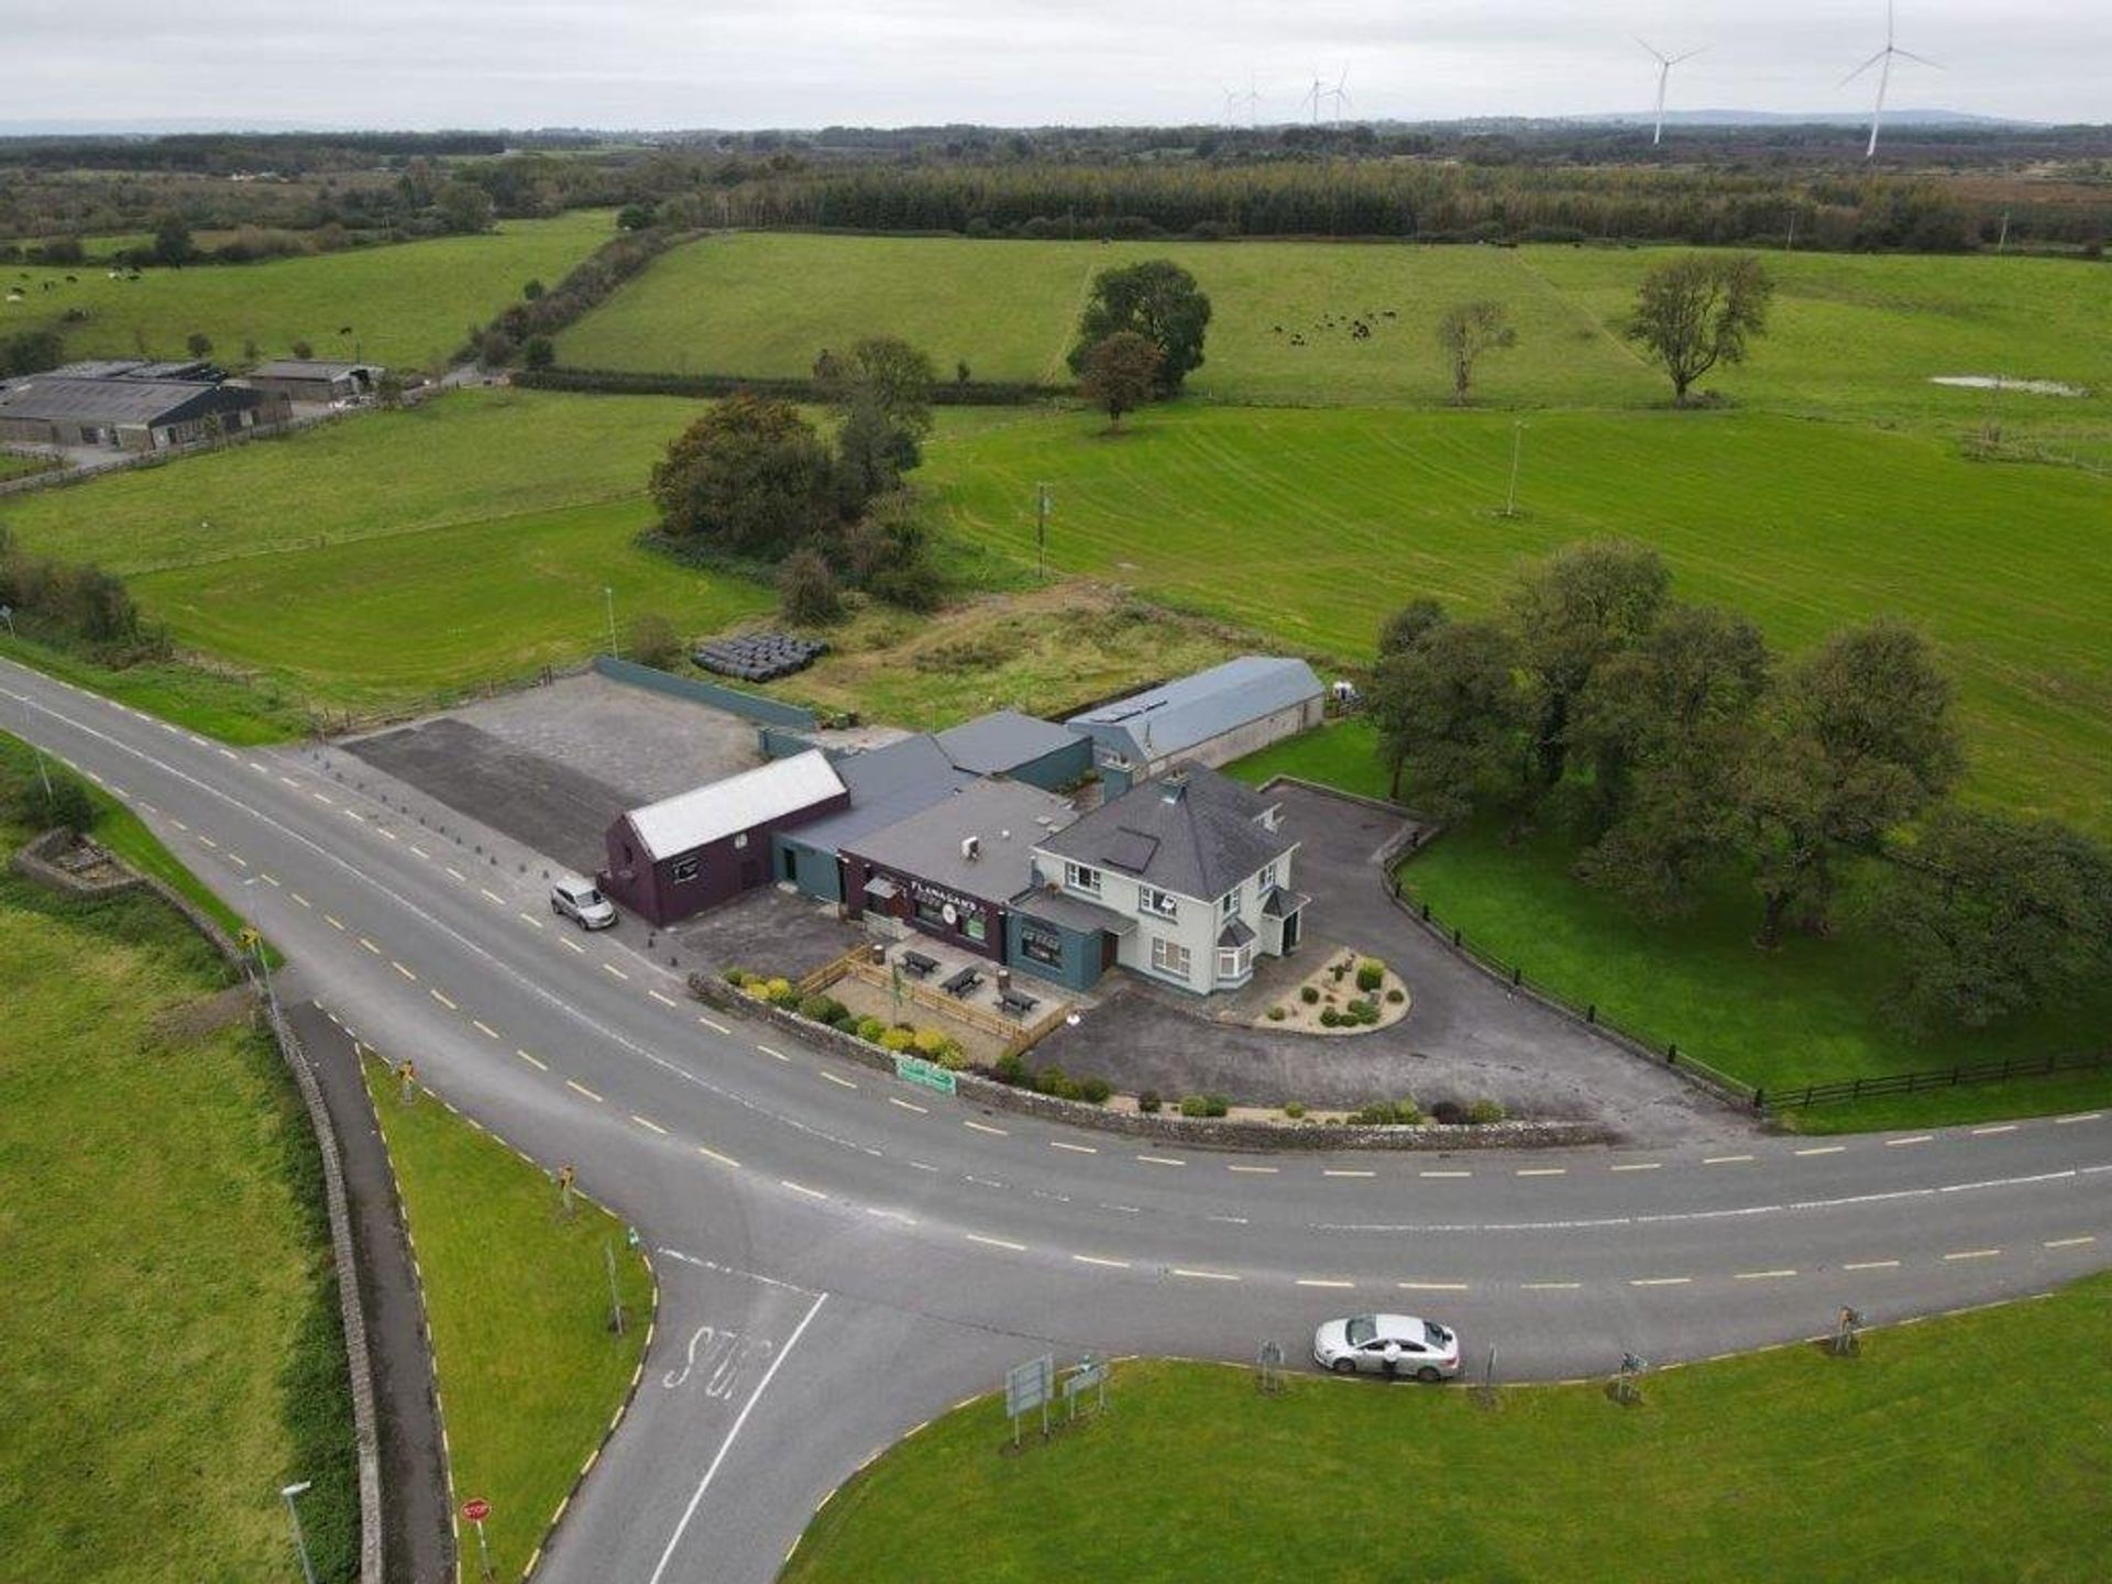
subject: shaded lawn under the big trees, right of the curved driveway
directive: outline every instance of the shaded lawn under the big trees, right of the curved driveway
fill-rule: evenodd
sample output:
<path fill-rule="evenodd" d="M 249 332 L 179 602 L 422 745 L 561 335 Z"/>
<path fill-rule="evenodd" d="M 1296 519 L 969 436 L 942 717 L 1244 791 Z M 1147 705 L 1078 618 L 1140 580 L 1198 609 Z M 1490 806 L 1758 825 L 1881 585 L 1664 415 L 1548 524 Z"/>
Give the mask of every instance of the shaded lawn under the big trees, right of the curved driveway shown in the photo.
<path fill-rule="evenodd" d="M 1375 737 L 1362 720 L 1326 727 L 1240 760 L 1248 781 L 1299 775 L 1347 792 L 1385 796 Z M 1759 904 L 1726 876 L 1702 906 L 1668 923 L 1635 919 L 1626 906 L 1569 874 L 1576 843 L 1546 826 L 1506 843 L 1500 822 L 1445 832 L 1400 868 L 1411 898 L 1506 967 L 1573 1007 L 1597 1005 L 1609 1022 L 1656 1050 L 1677 1043 L 1734 1079 L 1768 1090 L 1884 1073 L 1918 1073 L 2101 1043 L 2112 988 L 2085 1005 L 2002 1022 L 1981 1033 L 1913 1037 L 1884 1014 L 1899 959 L 1875 908 L 1875 866 L 1846 872 L 1837 927 L 1825 940 L 1791 936 L 1774 953 L 1753 948 Z M 1411 986 L 1413 988 L 1413 986 Z M 1937 1126 L 2006 1115 L 2047 1115 L 2112 1102 L 2112 1071 L 2019 1079 L 1901 1096 L 1884 1105 L 1787 1113 L 1806 1132 Z"/>

